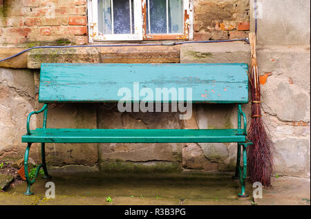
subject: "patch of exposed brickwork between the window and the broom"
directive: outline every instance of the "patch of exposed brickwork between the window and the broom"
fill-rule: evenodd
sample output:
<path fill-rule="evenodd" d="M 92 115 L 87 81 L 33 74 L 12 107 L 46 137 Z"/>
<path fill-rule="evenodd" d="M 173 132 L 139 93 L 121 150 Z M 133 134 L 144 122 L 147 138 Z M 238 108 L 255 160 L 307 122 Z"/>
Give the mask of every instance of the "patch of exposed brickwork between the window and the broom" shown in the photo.
<path fill-rule="evenodd" d="M 249 0 L 194 0 L 194 40 L 238 39 L 249 30 Z"/>

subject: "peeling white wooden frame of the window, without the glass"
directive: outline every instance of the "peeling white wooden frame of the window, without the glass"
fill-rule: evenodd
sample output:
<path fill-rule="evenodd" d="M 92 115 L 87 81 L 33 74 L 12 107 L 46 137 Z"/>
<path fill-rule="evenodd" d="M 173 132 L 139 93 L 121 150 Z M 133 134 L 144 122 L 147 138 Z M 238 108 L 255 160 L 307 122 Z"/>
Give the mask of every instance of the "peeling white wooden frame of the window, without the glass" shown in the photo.
<path fill-rule="evenodd" d="M 189 19 L 184 20 L 184 33 L 176 39 L 193 39 L 193 0 L 184 0 L 184 11 L 189 15 Z M 152 39 L 153 37 L 146 35 L 144 32 L 144 6 L 146 0 L 133 0 L 134 6 L 134 33 L 133 34 L 102 34 L 98 30 L 98 5 L 97 0 L 88 0 L 88 39 L 90 43 L 94 41 L 140 41 L 143 39 Z M 185 16 L 185 15 L 184 15 Z M 162 34 L 169 36 L 169 34 Z M 173 35 L 171 35 L 173 37 Z M 157 37 L 154 37 L 158 39 Z M 165 39 L 165 37 L 164 37 Z M 170 38 L 168 38 L 170 39 Z M 175 38 L 172 38 L 175 39 Z"/>

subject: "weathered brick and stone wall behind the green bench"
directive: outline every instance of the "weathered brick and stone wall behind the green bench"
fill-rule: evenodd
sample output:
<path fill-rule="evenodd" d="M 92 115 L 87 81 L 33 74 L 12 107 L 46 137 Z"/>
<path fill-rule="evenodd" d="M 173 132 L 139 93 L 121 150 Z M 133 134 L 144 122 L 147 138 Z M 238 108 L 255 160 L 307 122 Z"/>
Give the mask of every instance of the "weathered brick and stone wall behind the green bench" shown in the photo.
<path fill-rule="evenodd" d="M 85 1 L 52 1 L 59 7 L 54 24 L 44 23 L 40 15 L 21 13 L 23 8 L 39 11 L 47 1 L 0 0 L 0 7 L 3 2 L 15 10 L 0 8 L 0 15 L 5 15 L 0 16 L 0 44 L 6 44 L 6 48 L 0 48 L 0 59 L 21 51 L 8 44 L 29 46 L 32 42 L 47 44 L 57 39 L 69 39 L 70 44 L 79 44 L 78 39 L 87 41 L 84 33 L 56 34 L 58 29 L 68 31 L 85 26 L 69 23 L 70 17 L 86 16 Z M 263 119 L 275 146 L 274 169 L 277 174 L 310 176 L 310 28 L 305 28 L 310 26 L 305 19 L 310 17 L 310 3 L 302 0 L 262 3 L 257 53 L 261 75 L 270 75 L 261 88 Z M 254 30 L 253 10 L 252 1 L 195 0 L 194 39 L 245 37 L 249 21 Z M 288 14 L 295 15 L 294 19 L 288 19 Z M 41 23 L 36 23 L 37 18 Z M 276 22 L 280 20 L 281 26 Z M 293 23 L 297 25 L 293 27 Z M 41 28 L 50 28 L 51 34 L 42 35 Z M 41 62 L 249 63 L 249 57 L 249 45 L 232 42 L 31 50 L 1 62 L 0 159 L 23 157 L 26 145 L 21 143 L 21 135 L 26 133 L 26 117 L 41 107 L 37 102 Z M 191 119 L 181 121 L 176 113 L 119 113 L 114 104 L 50 104 L 48 127 L 236 128 L 236 108 L 227 104 L 196 104 Z M 249 109 L 250 105 L 244 104 L 248 121 Z M 41 126 L 41 120 L 41 115 L 32 117 L 31 126 Z M 232 171 L 236 160 L 236 144 L 47 144 L 46 151 L 50 168 L 58 171 Z M 32 146 L 31 157 L 39 160 L 39 153 L 39 145 Z"/>

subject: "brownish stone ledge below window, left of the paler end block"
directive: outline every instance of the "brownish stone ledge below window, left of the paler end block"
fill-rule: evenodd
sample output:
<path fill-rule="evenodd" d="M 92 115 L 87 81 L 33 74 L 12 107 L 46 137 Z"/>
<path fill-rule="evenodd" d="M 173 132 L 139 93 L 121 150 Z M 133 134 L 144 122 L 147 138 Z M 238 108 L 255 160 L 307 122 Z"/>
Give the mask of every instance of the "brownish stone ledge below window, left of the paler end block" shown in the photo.
<path fill-rule="evenodd" d="M 18 51 L 17 51 L 18 50 Z M 0 57 L 21 52 L 18 48 L 1 48 Z M 176 46 L 122 46 L 97 48 L 39 48 L 3 61 L 4 68 L 41 67 L 41 63 L 178 63 L 180 45 Z"/>

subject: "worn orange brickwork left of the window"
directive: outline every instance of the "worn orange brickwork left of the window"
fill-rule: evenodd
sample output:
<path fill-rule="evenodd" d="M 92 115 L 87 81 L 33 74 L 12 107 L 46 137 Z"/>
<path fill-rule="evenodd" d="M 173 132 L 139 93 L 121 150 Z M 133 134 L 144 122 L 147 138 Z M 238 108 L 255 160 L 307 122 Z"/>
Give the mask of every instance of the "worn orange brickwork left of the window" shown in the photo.
<path fill-rule="evenodd" d="M 88 41 L 86 0 L 0 0 L 0 11 L 0 44 Z"/>

